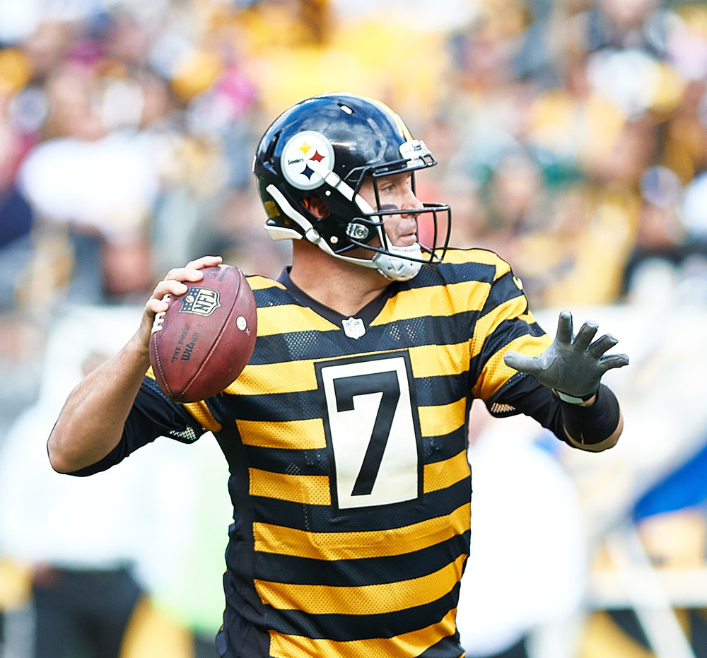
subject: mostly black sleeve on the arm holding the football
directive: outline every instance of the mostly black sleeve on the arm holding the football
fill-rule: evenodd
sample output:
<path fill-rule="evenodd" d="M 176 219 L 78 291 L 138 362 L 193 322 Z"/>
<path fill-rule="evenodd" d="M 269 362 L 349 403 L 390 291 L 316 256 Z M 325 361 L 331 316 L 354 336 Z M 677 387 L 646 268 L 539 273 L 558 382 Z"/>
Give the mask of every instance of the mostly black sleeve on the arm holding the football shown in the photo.
<path fill-rule="evenodd" d="M 187 405 L 171 402 L 159 391 L 153 379 L 145 377 L 118 445 L 103 459 L 70 475 L 88 476 L 110 469 L 160 436 L 193 443 L 206 430 L 214 428 L 213 425 L 213 418 L 203 403 Z"/>

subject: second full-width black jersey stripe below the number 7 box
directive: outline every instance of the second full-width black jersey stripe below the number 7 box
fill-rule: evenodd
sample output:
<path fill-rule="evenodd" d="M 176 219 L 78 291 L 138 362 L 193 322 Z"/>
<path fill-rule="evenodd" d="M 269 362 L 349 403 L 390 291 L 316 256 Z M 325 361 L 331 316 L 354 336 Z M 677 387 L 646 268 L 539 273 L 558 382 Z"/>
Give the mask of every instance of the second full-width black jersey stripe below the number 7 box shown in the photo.
<path fill-rule="evenodd" d="M 445 568 L 459 556 L 469 554 L 469 534 L 456 535 L 415 553 L 358 560 L 312 560 L 277 553 L 255 553 L 255 577 L 272 580 L 273 574 L 288 574 L 288 584 L 341 587 L 356 573 L 356 587 L 396 582 L 397 575 L 421 578 Z"/>

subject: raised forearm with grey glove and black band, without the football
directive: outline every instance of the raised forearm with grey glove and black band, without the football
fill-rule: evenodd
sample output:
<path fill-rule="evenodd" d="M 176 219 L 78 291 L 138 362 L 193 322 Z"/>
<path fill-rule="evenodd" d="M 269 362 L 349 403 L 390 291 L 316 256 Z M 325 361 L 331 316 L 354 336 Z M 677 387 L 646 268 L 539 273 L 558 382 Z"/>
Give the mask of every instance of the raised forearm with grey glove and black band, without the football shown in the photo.
<path fill-rule="evenodd" d="M 624 418 L 619 401 L 601 379 L 607 370 L 629 363 L 625 354 L 607 355 L 618 341 L 611 334 L 594 340 L 597 331 L 595 322 L 585 322 L 573 336 L 572 315 L 563 311 L 555 339 L 542 354 L 508 352 L 503 357 L 510 368 L 552 389 L 560 400 L 568 442 L 590 452 L 613 447 L 621 436 Z"/>

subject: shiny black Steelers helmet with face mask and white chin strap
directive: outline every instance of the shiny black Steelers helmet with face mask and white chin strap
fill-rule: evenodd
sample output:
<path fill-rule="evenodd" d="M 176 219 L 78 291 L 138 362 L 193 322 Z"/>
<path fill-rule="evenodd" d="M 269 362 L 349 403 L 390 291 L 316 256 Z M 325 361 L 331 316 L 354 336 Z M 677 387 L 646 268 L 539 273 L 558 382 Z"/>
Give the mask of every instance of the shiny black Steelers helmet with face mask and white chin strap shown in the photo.
<path fill-rule="evenodd" d="M 274 240 L 305 239 L 334 257 L 406 281 L 423 263 L 442 259 L 451 230 L 449 206 L 395 208 L 379 203 L 372 208 L 358 192 L 371 177 L 378 199 L 375 181 L 381 176 L 411 171 L 414 184 L 414 170 L 436 164 L 425 143 L 414 139 L 382 102 L 327 93 L 298 102 L 271 124 L 255 153 L 253 172 L 268 216 L 265 228 Z M 312 197 L 327 206 L 326 216 L 310 212 Z M 390 244 L 383 219 L 401 212 L 432 218 L 432 245 Z M 378 244 L 370 245 L 375 237 Z M 353 257 L 349 252 L 355 247 L 375 253 L 372 259 Z"/>

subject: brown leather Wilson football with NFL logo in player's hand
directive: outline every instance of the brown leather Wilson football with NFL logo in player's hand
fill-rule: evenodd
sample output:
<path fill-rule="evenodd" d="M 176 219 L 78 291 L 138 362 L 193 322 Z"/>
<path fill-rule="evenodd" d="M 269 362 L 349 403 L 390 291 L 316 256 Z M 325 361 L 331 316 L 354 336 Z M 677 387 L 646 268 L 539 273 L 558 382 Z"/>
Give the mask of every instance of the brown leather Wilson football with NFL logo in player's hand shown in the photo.
<path fill-rule="evenodd" d="M 205 267 L 204 278 L 168 295 L 150 336 L 150 363 L 163 393 L 196 402 L 221 393 L 250 360 L 257 335 L 255 297 L 233 265 Z"/>

